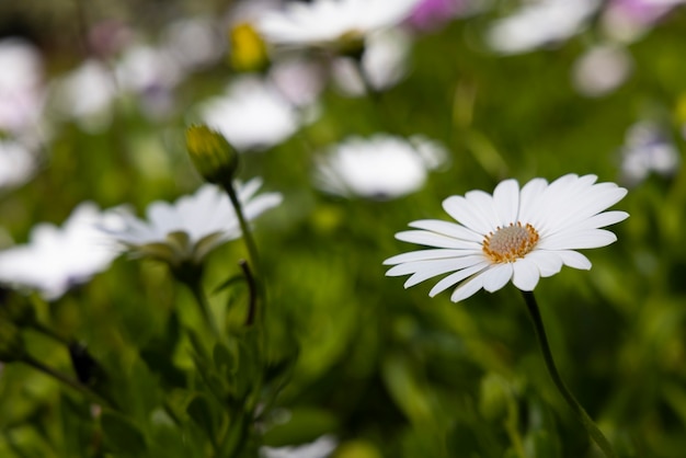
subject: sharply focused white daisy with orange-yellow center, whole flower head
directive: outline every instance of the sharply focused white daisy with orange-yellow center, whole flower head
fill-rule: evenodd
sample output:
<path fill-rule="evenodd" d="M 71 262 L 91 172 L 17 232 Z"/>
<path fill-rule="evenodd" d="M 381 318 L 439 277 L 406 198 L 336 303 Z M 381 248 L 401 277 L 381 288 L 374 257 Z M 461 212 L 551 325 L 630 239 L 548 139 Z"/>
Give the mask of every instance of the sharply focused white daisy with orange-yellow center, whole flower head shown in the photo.
<path fill-rule="evenodd" d="M 430 291 L 457 285 L 450 299 L 466 299 L 483 288 L 493 293 L 512 283 L 533 290 L 540 277 L 557 274 L 562 265 L 591 268 L 574 250 L 599 248 L 617 237 L 602 227 L 626 219 L 625 211 L 605 211 L 627 190 L 615 183 L 595 183 L 597 176 L 564 175 L 552 183 L 534 179 L 524 187 L 515 180 L 501 182 L 491 196 L 471 191 L 451 196 L 443 208 L 458 222 L 419 220 L 418 230 L 399 232 L 398 240 L 432 247 L 392 256 L 386 275 L 412 274 L 405 288 L 450 273 Z"/>

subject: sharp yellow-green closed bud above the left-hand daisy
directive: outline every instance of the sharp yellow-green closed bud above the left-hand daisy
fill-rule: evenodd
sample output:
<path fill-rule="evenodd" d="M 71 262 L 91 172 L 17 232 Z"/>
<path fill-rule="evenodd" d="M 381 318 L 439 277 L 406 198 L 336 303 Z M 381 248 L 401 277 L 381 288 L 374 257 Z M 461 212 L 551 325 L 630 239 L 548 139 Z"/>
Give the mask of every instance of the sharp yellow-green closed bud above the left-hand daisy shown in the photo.
<path fill-rule="evenodd" d="M 195 169 L 209 183 L 230 183 L 238 169 L 238 152 L 224 136 L 207 126 L 186 130 L 186 147 Z"/>

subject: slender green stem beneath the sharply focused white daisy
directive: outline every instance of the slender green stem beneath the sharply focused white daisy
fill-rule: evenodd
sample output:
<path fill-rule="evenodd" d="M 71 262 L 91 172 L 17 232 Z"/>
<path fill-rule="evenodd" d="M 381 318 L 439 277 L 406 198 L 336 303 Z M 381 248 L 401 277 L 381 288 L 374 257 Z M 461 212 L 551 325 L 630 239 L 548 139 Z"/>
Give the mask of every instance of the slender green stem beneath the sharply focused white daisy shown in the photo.
<path fill-rule="evenodd" d="M 550 353 L 548 337 L 546 336 L 546 329 L 544 327 L 544 321 L 540 317 L 540 310 L 538 309 L 538 304 L 536 302 L 534 293 L 522 291 L 522 295 L 524 296 L 524 301 L 526 302 L 529 316 L 531 317 L 534 329 L 536 330 L 536 336 L 538 337 L 538 343 L 540 344 L 540 351 L 544 355 L 546 367 L 548 368 L 548 374 L 550 374 L 550 378 L 552 379 L 554 386 L 557 387 L 560 394 L 562 394 L 562 398 L 564 398 L 569 407 L 572 409 L 576 417 L 584 425 L 593 440 L 598 445 L 598 447 L 601 447 L 605 456 L 607 458 L 617 458 L 617 454 L 615 454 L 615 450 L 609 444 L 609 440 L 607 440 L 605 435 L 603 435 L 603 433 L 593 422 L 591 416 L 588 416 L 584 408 L 579 403 L 579 401 L 576 401 L 572 392 L 567 388 L 564 381 L 562 381 L 562 378 L 558 373 L 558 368 L 554 365 L 552 353 Z"/>

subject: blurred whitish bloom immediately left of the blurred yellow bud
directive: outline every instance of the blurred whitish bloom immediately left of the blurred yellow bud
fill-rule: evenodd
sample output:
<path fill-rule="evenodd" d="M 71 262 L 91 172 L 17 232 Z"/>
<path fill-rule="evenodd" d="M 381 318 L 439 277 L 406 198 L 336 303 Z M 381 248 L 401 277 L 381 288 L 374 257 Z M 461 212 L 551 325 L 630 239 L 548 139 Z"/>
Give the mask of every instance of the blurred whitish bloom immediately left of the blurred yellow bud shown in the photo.
<path fill-rule="evenodd" d="M 184 71 L 195 71 L 221 59 L 226 39 L 209 18 L 182 19 L 164 31 L 164 48 Z"/>

